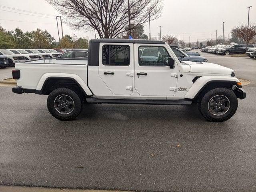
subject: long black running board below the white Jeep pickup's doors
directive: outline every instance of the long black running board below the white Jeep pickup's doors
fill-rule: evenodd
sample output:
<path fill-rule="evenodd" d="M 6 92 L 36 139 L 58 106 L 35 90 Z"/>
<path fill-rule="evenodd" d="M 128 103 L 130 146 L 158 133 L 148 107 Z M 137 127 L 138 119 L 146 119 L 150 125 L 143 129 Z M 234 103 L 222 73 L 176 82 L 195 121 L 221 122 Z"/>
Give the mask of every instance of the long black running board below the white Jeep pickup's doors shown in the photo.
<path fill-rule="evenodd" d="M 111 103 L 111 104 L 148 104 L 148 105 L 191 105 L 192 100 L 142 100 L 142 99 L 98 99 L 86 98 L 88 103 Z"/>

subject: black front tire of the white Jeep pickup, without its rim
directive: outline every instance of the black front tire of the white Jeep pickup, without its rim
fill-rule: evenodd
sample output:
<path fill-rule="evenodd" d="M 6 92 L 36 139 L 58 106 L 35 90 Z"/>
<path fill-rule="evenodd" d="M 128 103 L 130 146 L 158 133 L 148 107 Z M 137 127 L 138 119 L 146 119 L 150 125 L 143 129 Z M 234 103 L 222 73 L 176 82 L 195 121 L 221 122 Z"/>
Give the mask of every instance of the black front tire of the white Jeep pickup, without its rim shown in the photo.
<path fill-rule="evenodd" d="M 208 109 L 208 103 L 210 99 L 217 95 L 226 96 L 226 98 L 228 98 L 230 102 L 230 108 L 228 109 L 228 111 L 220 116 L 212 114 Z M 236 113 L 237 107 L 238 100 L 236 94 L 234 94 L 234 92 L 228 88 L 214 88 L 208 91 L 202 97 L 202 100 L 200 100 L 198 103 L 199 112 L 202 114 L 204 118 L 206 118 L 206 120 L 211 122 L 223 122 L 230 119 Z"/>

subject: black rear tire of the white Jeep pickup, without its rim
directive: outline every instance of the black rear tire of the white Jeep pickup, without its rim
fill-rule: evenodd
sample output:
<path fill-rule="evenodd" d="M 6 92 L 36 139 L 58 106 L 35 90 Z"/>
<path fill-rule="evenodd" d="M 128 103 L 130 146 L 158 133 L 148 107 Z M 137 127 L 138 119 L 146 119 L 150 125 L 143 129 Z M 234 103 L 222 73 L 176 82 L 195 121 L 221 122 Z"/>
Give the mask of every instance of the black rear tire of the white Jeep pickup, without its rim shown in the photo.
<path fill-rule="evenodd" d="M 74 101 L 74 109 L 70 114 L 61 114 L 55 109 L 54 100 L 59 95 L 67 95 Z M 62 121 L 74 120 L 82 111 L 82 102 L 81 98 L 73 90 L 68 88 L 57 88 L 49 94 L 47 98 L 47 108 L 50 114 L 52 114 L 52 116 L 54 116 L 56 119 Z"/>

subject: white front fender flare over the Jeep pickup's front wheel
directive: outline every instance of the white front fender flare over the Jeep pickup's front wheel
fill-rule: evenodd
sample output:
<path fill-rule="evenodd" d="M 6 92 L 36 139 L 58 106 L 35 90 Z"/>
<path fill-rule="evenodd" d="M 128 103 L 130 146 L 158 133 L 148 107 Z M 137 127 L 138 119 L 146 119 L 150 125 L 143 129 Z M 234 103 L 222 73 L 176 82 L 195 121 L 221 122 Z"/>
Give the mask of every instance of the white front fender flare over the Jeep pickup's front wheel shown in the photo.
<path fill-rule="evenodd" d="M 237 78 L 231 76 L 202 76 L 194 82 L 194 84 L 190 87 L 184 98 L 186 99 L 195 99 L 198 94 L 211 82 L 231 82 L 234 85 L 237 82 L 240 82 Z"/>

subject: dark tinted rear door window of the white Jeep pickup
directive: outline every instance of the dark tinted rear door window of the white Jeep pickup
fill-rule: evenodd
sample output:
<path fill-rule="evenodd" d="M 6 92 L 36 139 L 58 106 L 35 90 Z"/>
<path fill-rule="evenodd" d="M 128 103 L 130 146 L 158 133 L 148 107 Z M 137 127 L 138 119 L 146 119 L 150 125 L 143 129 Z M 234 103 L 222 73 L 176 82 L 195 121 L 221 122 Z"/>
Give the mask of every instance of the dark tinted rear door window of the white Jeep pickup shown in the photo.
<path fill-rule="evenodd" d="M 130 64 L 130 46 L 128 45 L 102 46 L 102 64 L 128 66 Z"/>

